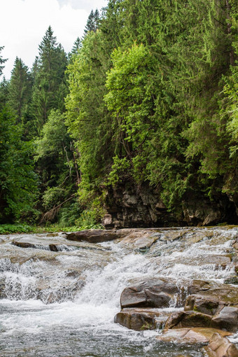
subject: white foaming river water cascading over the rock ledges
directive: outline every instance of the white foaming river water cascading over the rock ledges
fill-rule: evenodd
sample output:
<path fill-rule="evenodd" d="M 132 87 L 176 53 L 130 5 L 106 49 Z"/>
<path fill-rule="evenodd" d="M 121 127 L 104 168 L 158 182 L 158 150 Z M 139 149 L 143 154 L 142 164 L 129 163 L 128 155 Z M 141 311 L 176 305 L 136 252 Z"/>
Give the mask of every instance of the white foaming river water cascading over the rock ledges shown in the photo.
<path fill-rule="evenodd" d="M 225 262 L 237 228 L 155 235 L 158 241 L 147 251 L 120 241 L 70 242 L 62 234 L 1 236 L 0 356 L 203 356 L 197 346 L 158 342 L 160 331 L 128 330 L 113 318 L 123 288 L 141 279 L 169 277 L 178 286 L 193 279 L 223 283 L 235 273 Z M 57 252 L 50 251 L 52 243 Z"/>

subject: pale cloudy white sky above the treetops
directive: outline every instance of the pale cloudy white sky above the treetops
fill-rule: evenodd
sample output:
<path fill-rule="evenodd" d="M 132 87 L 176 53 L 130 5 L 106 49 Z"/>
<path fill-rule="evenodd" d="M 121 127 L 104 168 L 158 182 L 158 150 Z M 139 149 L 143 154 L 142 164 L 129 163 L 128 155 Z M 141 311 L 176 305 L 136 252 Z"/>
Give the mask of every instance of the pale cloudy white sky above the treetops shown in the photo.
<path fill-rule="evenodd" d="M 0 0 L 1 57 L 8 58 L 3 76 L 10 78 L 15 57 L 31 69 L 49 26 L 69 52 L 76 38 L 83 36 L 90 11 L 101 10 L 106 4 L 107 0 Z"/>

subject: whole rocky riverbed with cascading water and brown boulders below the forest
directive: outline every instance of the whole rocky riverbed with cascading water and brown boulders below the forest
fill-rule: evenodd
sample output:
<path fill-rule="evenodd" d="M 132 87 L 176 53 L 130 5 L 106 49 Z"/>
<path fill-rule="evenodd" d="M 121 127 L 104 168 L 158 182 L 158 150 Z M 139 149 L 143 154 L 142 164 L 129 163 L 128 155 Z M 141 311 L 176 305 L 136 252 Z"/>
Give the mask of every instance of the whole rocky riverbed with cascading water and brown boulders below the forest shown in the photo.
<path fill-rule="evenodd" d="M 237 227 L 1 236 L 0 264 L 0 356 L 238 356 Z"/>

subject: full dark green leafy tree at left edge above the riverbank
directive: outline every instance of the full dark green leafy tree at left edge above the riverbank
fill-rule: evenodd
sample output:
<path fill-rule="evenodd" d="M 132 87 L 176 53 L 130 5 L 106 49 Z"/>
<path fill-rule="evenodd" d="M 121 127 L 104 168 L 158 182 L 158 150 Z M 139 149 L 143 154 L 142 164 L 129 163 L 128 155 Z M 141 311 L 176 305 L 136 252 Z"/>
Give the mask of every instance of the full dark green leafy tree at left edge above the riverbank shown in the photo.
<path fill-rule="evenodd" d="M 0 112 L 0 221 L 31 217 L 38 196 L 31 142 L 21 140 L 22 129 L 8 109 Z"/>

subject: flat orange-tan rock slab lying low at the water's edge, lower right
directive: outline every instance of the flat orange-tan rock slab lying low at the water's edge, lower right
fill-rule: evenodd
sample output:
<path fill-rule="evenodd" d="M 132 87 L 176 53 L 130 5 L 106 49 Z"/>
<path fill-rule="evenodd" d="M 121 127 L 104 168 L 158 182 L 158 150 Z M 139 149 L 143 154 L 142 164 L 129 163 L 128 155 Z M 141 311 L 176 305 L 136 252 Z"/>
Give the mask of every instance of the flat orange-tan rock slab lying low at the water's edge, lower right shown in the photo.
<path fill-rule="evenodd" d="M 176 342 L 179 344 L 201 344 L 210 342 L 215 332 L 222 336 L 231 335 L 230 332 L 214 328 L 179 328 L 177 330 L 164 330 L 157 339 L 163 342 Z"/>

